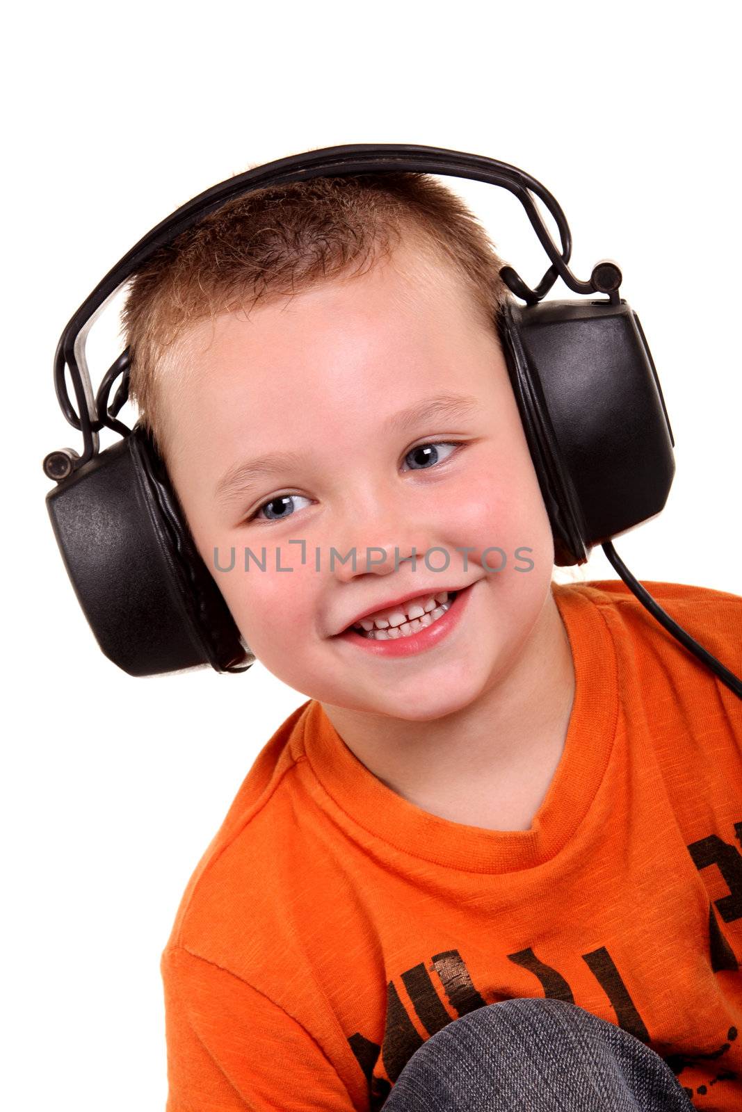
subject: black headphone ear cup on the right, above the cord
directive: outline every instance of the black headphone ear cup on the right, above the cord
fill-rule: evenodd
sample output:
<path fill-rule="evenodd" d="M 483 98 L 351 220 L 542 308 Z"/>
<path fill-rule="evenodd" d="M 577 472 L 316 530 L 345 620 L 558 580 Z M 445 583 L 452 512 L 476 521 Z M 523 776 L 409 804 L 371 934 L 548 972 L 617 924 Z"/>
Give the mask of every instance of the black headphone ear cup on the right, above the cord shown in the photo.
<path fill-rule="evenodd" d="M 560 566 L 659 514 L 674 439 L 639 317 L 609 300 L 507 301 L 498 331 Z"/>

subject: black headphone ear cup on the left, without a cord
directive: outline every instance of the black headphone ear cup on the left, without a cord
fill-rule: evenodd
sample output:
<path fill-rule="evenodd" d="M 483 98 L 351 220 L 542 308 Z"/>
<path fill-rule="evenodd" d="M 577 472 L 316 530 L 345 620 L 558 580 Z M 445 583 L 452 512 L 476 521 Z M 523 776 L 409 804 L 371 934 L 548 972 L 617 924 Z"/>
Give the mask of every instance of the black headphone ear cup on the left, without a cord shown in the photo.
<path fill-rule="evenodd" d="M 139 425 L 50 490 L 47 509 L 78 600 L 113 664 L 131 676 L 250 667 L 255 656 Z"/>

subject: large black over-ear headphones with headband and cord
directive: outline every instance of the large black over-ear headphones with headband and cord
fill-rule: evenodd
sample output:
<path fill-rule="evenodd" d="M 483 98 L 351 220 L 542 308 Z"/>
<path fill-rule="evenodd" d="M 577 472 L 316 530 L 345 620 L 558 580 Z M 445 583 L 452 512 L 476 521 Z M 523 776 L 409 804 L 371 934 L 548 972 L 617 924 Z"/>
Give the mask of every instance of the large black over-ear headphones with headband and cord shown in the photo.
<path fill-rule="evenodd" d="M 43 460 L 57 487 L 47 508 L 70 579 L 102 652 L 132 676 L 210 664 L 245 672 L 255 656 L 192 540 L 151 437 L 117 419 L 128 397 L 129 356 L 122 353 L 93 396 L 86 361 L 90 326 L 107 301 L 166 244 L 231 198 L 267 186 L 315 177 L 412 171 L 472 178 L 501 186 L 521 201 L 551 260 L 531 289 L 509 266 L 508 301 L 497 321 L 554 536 L 555 562 L 584 564 L 601 544 L 609 560 L 650 613 L 742 698 L 742 681 L 657 605 L 616 555 L 611 537 L 659 514 L 675 471 L 674 439 L 660 380 L 634 310 L 619 297 L 621 271 L 603 260 L 588 281 L 567 262 L 572 235 L 552 195 L 506 162 L 437 147 L 352 143 L 278 159 L 222 181 L 177 209 L 106 275 L 63 330 L 55 385 L 65 417 L 82 434 L 72 448 Z M 555 246 L 536 208 L 552 214 Z M 543 301 L 556 279 L 586 295 Z M 595 298 L 594 295 L 605 295 Z M 67 390 L 75 387 L 77 410 Z M 116 379 L 121 383 L 113 400 Z M 99 451 L 107 427 L 122 437 Z"/>

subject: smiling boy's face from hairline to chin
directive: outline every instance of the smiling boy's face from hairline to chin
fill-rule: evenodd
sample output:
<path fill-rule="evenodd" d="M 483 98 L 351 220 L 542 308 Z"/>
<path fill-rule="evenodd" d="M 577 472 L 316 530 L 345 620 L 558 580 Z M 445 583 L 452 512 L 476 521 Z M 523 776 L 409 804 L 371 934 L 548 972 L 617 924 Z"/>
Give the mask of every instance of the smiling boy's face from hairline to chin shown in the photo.
<path fill-rule="evenodd" d="M 554 559 L 494 330 L 453 271 L 428 274 L 403 245 L 360 277 L 199 324 L 184 345 L 192 380 L 168 396 L 170 476 L 251 651 L 321 703 L 408 721 L 462 709 L 503 678 L 550 597 Z M 387 428 L 438 395 L 476 404 Z M 429 443 L 437 456 L 412 450 Z M 296 461 L 219 493 L 236 466 L 278 451 Z M 492 546 L 502 552 L 483 556 Z M 231 570 L 216 570 L 215 548 L 222 568 L 235 549 Z M 253 557 L 245 570 L 246 548 L 260 560 L 265 548 L 265 572 Z M 330 570 L 332 548 L 355 549 L 355 570 L 337 556 Z M 426 565 L 433 548 L 445 552 Z M 487 570 L 503 553 L 502 570 Z M 337 636 L 369 609 L 469 585 L 457 624 L 424 651 L 375 655 Z"/>

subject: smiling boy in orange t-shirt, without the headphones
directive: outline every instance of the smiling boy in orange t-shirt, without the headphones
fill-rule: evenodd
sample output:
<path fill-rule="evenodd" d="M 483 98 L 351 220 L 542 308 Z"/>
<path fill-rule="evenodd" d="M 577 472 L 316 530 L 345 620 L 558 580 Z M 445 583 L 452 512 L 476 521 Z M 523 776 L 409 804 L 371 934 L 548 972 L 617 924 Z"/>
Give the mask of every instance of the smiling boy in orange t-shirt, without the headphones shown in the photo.
<path fill-rule="evenodd" d="M 538 1108 L 742 1105 L 740 704 L 622 583 L 552 583 L 501 265 L 385 173 L 231 201 L 131 286 L 131 395 L 199 552 L 309 696 L 164 953 L 169 1112 L 517 1108 L 514 1062 Z M 739 673 L 742 599 L 650 590 Z M 442 1040 L 481 1021 L 464 1103 L 477 1060 Z M 591 1023 L 587 1076 L 615 1036 L 643 1103 L 554 1088 Z"/>

